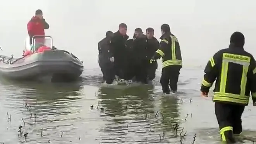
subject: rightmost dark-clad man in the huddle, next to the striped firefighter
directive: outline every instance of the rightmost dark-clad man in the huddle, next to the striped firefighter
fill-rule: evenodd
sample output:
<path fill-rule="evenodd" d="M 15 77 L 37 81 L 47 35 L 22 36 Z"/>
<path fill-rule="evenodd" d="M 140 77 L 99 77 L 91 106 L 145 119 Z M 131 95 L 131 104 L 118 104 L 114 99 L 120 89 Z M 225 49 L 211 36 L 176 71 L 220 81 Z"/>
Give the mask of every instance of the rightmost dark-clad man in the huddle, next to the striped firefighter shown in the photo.
<path fill-rule="evenodd" d="M 152 56 L 155 54 L 156 50 L 159 48 L 159 42 L 158 40 L 154 37 L 155 30 L 151 27 L 146 29 L 146 58 L 148 61 Z M 152 81 L 156 77 L 156 69 L 157 69 L 157 62 L 155 63 L 149 63 L 148 68 L 147 68 L 147 77 L 149 81 Z"/>

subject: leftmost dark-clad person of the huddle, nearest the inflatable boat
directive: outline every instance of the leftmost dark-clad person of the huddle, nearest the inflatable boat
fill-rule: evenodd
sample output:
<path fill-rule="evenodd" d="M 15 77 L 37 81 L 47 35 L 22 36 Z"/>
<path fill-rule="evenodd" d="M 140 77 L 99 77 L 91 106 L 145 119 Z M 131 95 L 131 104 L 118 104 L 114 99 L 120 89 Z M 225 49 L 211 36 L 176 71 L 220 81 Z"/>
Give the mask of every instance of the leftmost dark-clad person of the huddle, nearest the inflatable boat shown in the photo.
<path fill-rule="evenodd" d="M 113 53 L 110 51 L 110 43 L 113 37 L 112 31 L 106 32 L 106 37 L 102 39 L 98 43 L 98 51 L 99 51 L 99 66 L 101 68 L 101 72 L 103 74 L 103 80 L 106 81 L 107 84 L 113 83 L 115 79 L 115 71 L 114 71 L 114 57 Z"/>

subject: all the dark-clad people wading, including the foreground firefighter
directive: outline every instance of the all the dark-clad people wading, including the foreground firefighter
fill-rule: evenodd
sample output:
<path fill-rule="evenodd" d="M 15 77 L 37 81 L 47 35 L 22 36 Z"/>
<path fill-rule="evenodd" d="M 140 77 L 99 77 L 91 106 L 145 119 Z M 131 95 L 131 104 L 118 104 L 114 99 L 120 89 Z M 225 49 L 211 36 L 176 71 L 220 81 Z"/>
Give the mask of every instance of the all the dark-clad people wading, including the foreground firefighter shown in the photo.
<path fill-rule="evenodd" d="M 182 56 L 177 37 L 168 24 L 161 26 L 160 43 L 154 37 L 154 29 L 135 29 L 133 39 L 128 40 L 127 25 L 122 23 L 115 33 L 108 31 L 98 43 L 99 64 L 104 80 L 111 84 L 119 79 L 148 83 L 155 78 L 156 59 L 162 58 L 160 83 L 163 93 L 176 93 Z M 234 32 L 230 45 L 213 55 L 204 69 L 201 96 L 208 97 L 215 82 L 213 101 L 215 114 L 224 143 L 235 143 L 234 135 L 241 134 L 241 116 L 252 95 L 256 106 L 256 61 L 244 50 L 245 38 Z M 170 87 L 169 87 L 170 86 Z"/>

